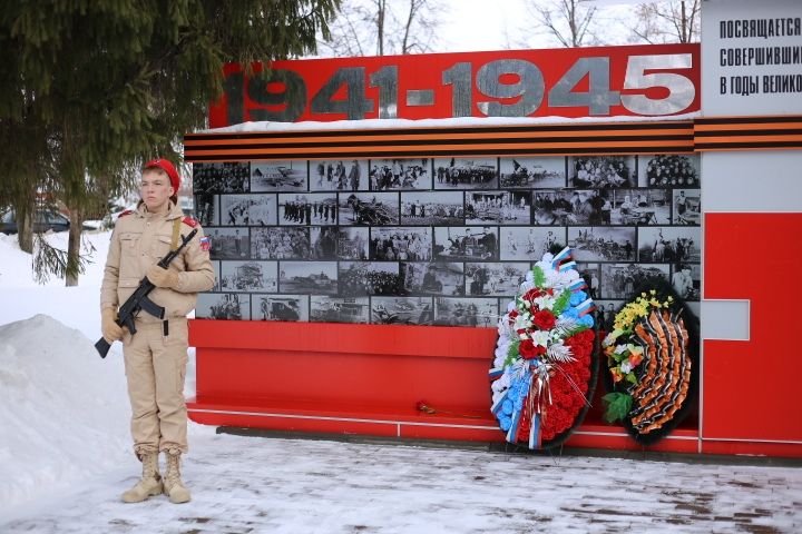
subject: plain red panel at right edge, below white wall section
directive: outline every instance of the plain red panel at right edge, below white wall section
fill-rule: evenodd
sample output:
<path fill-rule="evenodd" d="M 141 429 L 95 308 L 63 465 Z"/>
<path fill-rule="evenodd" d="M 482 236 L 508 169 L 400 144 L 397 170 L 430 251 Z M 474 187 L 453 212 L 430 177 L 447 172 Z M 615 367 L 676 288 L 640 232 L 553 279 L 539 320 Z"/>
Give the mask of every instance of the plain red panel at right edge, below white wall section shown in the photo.
<path fill-rule="evenodd" d="M 750 339 L 703 342 L 703 451 L 798 456 L 802 359 L 780 280 L 802 263 L 802 214 L 707 214 L 704 231 L 704 297 L 750 300 Z"/>

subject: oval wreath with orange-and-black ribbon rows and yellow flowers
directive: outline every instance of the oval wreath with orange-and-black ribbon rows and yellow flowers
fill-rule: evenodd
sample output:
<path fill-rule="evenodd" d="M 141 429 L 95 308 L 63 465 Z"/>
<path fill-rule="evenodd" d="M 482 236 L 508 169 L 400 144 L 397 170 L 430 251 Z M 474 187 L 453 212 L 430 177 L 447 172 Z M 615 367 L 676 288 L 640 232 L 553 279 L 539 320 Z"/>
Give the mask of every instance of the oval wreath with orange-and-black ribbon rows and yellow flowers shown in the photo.
<path fill-rule="evenodd" d="M 636 442 L 665 437 L 687 414 L 698 373 L 698 320 L 671 284 L 653 280 L 616 314 L 602 342 L 605 419 Z"/>

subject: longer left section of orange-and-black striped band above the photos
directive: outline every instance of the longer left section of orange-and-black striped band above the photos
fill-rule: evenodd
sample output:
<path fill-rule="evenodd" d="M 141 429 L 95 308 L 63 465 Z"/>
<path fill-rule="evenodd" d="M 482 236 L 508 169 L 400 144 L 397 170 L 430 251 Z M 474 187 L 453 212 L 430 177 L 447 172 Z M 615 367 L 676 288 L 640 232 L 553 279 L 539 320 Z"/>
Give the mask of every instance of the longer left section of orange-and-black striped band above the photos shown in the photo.
<path fill-rule="evenodd" d="M 185 136 L 187 161 L 692 151 L 691 121 Z"/>

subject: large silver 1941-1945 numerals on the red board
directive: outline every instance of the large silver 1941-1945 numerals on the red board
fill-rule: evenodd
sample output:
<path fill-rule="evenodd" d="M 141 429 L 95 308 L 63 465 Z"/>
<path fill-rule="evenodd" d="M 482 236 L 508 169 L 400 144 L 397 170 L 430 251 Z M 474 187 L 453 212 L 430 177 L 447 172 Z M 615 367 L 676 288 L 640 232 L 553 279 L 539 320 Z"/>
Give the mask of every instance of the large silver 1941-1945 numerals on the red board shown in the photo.
<path fill-rule="evenodd" d="M 577 59 L 551 87 L 540 68 L 522 59 L 488 61 L 475 70 L 470 61 L 456 62 L 441 72 L 440 95 L 450 89 L 451 117 L 527 117 L 548 108 L 584 107 L 589 116 L 608 116 L 613 106 L 633 115 L 682 112 L 696 98 L 693 80 L 683 73 L 693 67 L 691 53 L 629 56 L 622 90 L 610 88 L 610 58 Z M 587 90 L 577 89 L 584 79 Z M 376 89 L 370 98 L 368 88 Z M 661 91 L 647 92 L 653 88 Z M 245 79 L 234 72 L 225 80 L 228 123 L 245 120 L 293 122 L 304 113 L 331 120 L 378 117 L 403 118 L 407 107 L 432 106 L 436 88 L 399 91 L 399 67 L 384 66 L 368 73 L 365 67 L 342 67 L 311 95 L 304 78 L 286 69 L 257 72 Z M 448 92 L 446 92 L 448 93 Z M 246 99 L 247 98 L 247 110 Z M 247 111 L 247 113 L 246 113 Z M 246 117 L 247 115 L 247 117 Z"/>

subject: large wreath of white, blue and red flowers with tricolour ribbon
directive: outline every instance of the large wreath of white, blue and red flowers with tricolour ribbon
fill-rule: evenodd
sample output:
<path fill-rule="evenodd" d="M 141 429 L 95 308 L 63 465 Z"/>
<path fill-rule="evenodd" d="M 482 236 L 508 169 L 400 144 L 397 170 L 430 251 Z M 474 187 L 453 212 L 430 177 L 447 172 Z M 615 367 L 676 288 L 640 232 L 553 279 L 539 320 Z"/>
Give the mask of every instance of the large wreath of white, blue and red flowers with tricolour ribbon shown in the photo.
<path fill-rule="evenodd" d="M 575 267 L 567 247 L 545 254 L 499 320 L 490 411 L 509 443 L 554 446 L 589 406 L 595 305 Z"/>

